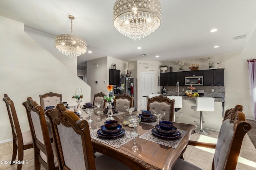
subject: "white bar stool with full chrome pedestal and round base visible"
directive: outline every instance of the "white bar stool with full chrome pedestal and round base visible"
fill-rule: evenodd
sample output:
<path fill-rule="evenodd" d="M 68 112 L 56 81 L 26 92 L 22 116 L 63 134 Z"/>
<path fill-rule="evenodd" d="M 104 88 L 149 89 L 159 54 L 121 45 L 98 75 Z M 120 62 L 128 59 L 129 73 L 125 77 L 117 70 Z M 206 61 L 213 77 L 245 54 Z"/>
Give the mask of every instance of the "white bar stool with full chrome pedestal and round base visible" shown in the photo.
<path fill-rule="evenodd" d="M 195 132 L 203 135 L 209 135 L 208 131 L 203 130 L 203 111 L 214 111 L 214 98 L 196 98 L 196 106 L 191 106 L 191 109 L 200 111 L 200 129 Z M 195 121 L 197 122 L 197 121 Z"/>

